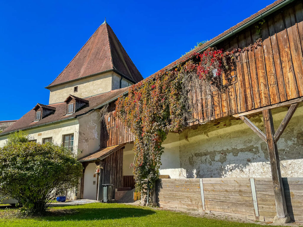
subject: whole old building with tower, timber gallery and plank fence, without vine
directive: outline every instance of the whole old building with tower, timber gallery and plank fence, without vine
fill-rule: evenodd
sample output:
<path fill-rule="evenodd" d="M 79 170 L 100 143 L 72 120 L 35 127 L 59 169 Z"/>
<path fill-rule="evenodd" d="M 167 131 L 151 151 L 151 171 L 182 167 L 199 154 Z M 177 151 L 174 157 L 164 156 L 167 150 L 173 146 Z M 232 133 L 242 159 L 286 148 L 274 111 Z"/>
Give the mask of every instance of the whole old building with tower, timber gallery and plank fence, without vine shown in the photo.
<path fill-rule="evenodd" d="M 244 48 L 260 37 L 261 45 L 238 54 L 226 89 L 209 84 L 210 95 L 191 94 L 200 100 L 197 120 L 162 144 L 158 206 L 303 222 L 302 2 L 278 0 L 192 52 Z M 0 145 L 24 130 L 39 143 L 52 138 L 78 152 L 84 168 L 72 198 L 100 200 L 104 183 L 114 185 L 114 194 L 133 189 L 134 136 L 114 112 L 118 97 L 142 80 L 105 21 L 46 87 L 49 104 L 7 127 Z M 210 120 L 201 124 L 204 119 Z"/>

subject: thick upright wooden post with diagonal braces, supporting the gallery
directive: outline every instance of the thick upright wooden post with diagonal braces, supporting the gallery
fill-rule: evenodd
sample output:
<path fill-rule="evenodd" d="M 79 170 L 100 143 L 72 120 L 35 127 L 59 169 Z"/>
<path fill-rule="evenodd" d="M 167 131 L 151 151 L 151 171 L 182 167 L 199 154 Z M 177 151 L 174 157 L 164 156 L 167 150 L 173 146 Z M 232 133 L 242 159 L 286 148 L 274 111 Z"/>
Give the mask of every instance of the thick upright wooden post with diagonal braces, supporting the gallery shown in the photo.
<path fill-rule="evenodd" d="M 272 120 L 271 110 L 263 110 L 263 120 L 265 126 L 267 147 L 269 153 L 269 161 L 271 167 L 271 177 L 274 185 L 275 203 L 278 218 L 289 217 L 285 202 L 284 188 L 281 178 L 280 160 L 278 156 L 277 144 L 274 140 L 274 124 Z"/>

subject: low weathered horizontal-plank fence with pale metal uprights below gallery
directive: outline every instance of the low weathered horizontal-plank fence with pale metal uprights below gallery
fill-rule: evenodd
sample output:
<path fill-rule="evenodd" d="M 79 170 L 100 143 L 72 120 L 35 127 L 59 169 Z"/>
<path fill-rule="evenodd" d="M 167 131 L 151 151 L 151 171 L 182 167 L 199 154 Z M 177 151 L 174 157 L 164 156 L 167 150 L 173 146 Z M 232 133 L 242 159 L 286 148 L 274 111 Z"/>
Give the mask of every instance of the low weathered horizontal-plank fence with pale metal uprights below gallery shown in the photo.
<path fill-rule="evenodd" d="M 303 177 L 282 180 L 288 213 L 292 220 L 303 222 Z M 271 178 L 160 179 L 156 201 L 161 207 L 261 221 L 272 221 L 276 215 Z"/>

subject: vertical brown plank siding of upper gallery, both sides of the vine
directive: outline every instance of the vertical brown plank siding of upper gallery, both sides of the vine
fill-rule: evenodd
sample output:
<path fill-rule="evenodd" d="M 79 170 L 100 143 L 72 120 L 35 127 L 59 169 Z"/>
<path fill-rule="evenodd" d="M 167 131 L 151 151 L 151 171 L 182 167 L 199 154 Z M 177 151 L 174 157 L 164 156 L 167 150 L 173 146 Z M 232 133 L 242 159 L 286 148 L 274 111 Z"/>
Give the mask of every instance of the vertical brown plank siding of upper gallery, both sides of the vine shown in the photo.
<path fill-rule="evenodd" d="M 231 75 L 234 76 L 233 82 L 226 85 L 226 90 L 220 92 L 213 85 L 206 84 L 211 89 L 196 89 L 189 94 L 195 104 L 193 118 L 197 120 L 188 125 L 303 97 L 302 12 L 302 2 L 295 1 L 265 17 L 260 31 L 255 28 L 259 25 L 256 23 L 216 45 L 217 49 L 232 50 L 262 38 L 261 46 L 238 54 L 237 68 Z M 115 109 L 115 104 L 111 105 L 109 112 Z M 110 121 L 107 121 L 108 117 Z M 105 118 L 101 148 L 133 141 L 129 130 L 119 120 L 116 122 L 113 112 Z"/>

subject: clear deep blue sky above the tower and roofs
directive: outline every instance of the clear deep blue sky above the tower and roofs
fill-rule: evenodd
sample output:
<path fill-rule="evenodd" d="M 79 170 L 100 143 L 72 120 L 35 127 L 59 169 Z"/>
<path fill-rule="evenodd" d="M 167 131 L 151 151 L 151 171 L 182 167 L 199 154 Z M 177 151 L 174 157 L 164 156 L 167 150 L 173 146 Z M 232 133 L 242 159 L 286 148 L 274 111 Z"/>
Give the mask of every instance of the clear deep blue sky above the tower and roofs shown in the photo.
<path fill-rule="evenodd" d="M 274 0 L 2 1 L 0 120 L 48 104 L 50 84 L 106 21 L 143 77 Z"/>

